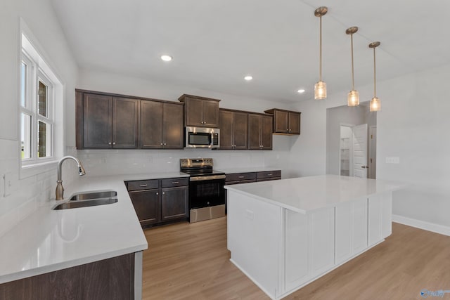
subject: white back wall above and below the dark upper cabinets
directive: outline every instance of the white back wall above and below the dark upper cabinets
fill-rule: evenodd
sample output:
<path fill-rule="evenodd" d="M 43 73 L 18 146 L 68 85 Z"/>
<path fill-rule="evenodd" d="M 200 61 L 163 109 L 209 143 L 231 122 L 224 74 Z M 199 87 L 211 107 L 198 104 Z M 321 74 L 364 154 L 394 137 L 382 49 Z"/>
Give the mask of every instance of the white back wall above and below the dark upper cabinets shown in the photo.
<path fill-rule="evenodd" d="M 77 89 L 105 91 L 129 96 L 155 98 L 169 101 L 184 93 L 221 99 L 221 108 L 264 112 L 270 108 L 290 107 L 276 101 L 266 101 L 214 91 L 204 91 L 188 86 L 176 86 L 119 74 L 80 70 Z M 184 157 L 212 157 L 215 169 L 236 167 L 288 166 L 290 141 L 295 137 L 274 136 L 274 150 L 78 150 L 86 172 L 90 175 L 142 174 L 148 172 L 179 171 L 179 159 Z M 283 178 L 289 173 L 282 172 Z"/>

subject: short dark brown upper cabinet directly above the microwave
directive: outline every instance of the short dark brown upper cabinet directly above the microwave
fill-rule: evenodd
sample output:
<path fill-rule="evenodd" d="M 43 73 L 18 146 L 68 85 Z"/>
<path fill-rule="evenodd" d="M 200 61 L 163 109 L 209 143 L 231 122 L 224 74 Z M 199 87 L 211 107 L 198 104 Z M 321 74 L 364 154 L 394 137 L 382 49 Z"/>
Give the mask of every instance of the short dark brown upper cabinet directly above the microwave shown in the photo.
<path fill-rule="evenodd" d="M 186 94 L 178 100 L 184 103 L 185 126 L 219 128 L 220 100 Z"/>

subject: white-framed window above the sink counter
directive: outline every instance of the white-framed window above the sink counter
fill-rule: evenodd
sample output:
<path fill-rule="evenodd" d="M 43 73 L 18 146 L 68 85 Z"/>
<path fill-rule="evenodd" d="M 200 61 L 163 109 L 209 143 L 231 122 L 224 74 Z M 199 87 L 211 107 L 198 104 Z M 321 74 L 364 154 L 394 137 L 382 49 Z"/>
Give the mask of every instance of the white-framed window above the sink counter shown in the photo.
<path fill-rule="evenodd" d="M 62 85 L 25 34 L 20 54 L 20 157 L 28 167 L 55 161 L 55 150 L 61 148 L 55 148 L 54 141 L 57 90 Z"/>

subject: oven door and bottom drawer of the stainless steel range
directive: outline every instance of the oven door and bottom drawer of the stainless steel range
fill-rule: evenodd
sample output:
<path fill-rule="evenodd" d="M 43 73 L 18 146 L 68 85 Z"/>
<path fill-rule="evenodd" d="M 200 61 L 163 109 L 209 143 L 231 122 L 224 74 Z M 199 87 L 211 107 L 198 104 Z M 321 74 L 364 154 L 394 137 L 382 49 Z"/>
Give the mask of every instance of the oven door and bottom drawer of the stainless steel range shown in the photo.
<path fill-rule="evenodd" d="M 225 178 L 189 182 L 189 222 L 225 216 Z"/>

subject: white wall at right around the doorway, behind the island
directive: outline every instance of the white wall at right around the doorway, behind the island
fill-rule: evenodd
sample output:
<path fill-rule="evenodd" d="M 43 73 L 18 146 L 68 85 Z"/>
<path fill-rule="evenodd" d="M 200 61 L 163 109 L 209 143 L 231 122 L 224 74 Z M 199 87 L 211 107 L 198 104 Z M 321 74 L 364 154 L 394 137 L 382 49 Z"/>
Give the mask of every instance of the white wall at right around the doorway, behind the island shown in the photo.
<path fill-rule="evenodd" d="M 450 235 L 450 101 L 445 86 L 450 66 L 378 82 L 377 178 L 408 183 L 394 193 L 394 215 L 404 223 Z M 358 87 L 370 99 L 372 86 Z M 440 92 L 440 93 L 439 93 Z M 345 105 L 347 91 L 297 105 L 302 135 L 290 152 L 293 173 L 326 173 L 326 108 Z M 399 157 L 399 164 L 386 164 Z"/>

